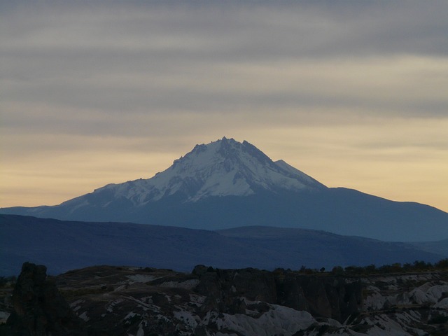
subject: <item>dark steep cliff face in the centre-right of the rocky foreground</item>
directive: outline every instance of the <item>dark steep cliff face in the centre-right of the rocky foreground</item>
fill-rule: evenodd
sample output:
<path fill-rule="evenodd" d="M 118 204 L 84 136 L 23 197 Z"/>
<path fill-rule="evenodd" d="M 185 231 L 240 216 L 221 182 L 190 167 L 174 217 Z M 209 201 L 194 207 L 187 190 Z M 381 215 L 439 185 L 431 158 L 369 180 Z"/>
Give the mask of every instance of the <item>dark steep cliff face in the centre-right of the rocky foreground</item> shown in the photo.
<path fill-rule="evenodd" d="M 228 312 L 239 297 L 270 304 L 281 304 L 313 316 L 343 322 L 363 307 L 360 280 L 342 276 L 303 275 L 286 270 L 267 272 L 260 269 L 213 269 L 197 266 L 200 278 L 196 290 L 209 300 L 207 309 Z M 235 309 L 234 309 L 235 310 Z"/>

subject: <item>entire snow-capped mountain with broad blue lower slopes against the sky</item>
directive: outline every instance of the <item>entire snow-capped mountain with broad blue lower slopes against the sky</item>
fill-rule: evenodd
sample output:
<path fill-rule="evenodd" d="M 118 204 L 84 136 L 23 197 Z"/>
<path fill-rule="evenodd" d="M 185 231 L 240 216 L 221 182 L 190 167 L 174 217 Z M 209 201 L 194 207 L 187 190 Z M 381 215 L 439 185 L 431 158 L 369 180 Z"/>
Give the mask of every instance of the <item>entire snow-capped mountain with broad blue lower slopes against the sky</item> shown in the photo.
<path fill-rule="evenodd" d="M 206 230 L 266 225 L 385 241 L 448 238 L 444 211 L 327 188 L 247 141 L 226 138 L 195 146 L 151 179 L 109 184 L 53 207 L 3 208 L 0 214 Z"/>

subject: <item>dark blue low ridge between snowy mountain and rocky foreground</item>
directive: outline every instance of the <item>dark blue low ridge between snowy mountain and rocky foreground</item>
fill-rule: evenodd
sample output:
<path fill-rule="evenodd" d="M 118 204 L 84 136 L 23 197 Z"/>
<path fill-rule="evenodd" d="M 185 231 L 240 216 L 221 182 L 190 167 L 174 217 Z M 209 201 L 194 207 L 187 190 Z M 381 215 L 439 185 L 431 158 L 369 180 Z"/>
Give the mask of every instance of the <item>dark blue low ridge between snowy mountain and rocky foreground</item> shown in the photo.
<path fill-rule="evenodd" d="M 407 243 L 294 228 L 211 231 L 0 215 L 0 232 L 0 275 L 15 274 L 25 261 L 45 264 L 51 274 L 57 274 L 92 265 L 178 271 L 190 271 L 200 264 L 225 268 L 331 269 L 335 265 L 437 262 L 448 256 Z"/>

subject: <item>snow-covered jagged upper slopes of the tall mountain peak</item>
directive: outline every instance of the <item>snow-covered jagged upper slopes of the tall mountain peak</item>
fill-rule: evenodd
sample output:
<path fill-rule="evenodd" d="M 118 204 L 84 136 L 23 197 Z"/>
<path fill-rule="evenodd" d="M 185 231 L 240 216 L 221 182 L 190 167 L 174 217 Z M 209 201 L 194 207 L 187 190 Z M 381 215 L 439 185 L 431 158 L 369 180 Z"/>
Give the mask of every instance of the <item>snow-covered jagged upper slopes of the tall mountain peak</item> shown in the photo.
<path fill-rule="evenodd" d="M 108 190 L 115 198 L 146 204 L 181 193 L 195 202 L 209 196 L 246 196 L 256 190 L 310 190 L 326 188 L 307 174 L 280 160 L 273 162 L 247 141 L 234 139 L 196 145 L 193 151 L 151 179 L 109 184 L 95 190 Z M 104 204 L 106 206 L 107 204 Z"/>

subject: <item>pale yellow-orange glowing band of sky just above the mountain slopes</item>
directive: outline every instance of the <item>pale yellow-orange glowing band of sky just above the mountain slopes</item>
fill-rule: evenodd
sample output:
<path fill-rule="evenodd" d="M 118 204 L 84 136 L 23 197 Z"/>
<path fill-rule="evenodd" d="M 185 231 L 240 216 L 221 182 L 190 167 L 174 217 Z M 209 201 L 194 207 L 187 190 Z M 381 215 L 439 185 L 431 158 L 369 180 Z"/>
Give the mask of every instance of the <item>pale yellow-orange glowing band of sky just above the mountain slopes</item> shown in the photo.
<path fill-rule="evenodd" d="M 353 130 L 342 125 L 262 132 L 248 130 L 235 134 L 235 139 L 251 142 L 272 160 L 285 160 L 328 187 L 353 188 L 389 200 L 419 202 L 448 211 L 448 160 L 444 160 L 444 151 L 406 146 L 363 150 L 363 146 L 378 141 L 378 137 L 384 141 L 394 137 L 395 125 L 383 126 L 383 134 L 377 134 L 376 127 Z M 446 129 L 448 123 L 414 120 L 407 127 L 402 125 L 401 137 L 406 137 L 406 133 L 412 137 L 417 132 L 422 138 L 431 134 L 434 137 L 437 132 L 443 137 Z M 422 134 L 422 130 L 426 130 L 426 134 Z M 242 133 L 247 133 L 247 137 Z M 365 144 L 358 141 L 360 134 Z M 232 137 L 231 134 L 226 136 Z M 191 139 L 190 144 L 179 145 L 177 151 L 176 148 L 166 148 L 164 152 L 149 148 L 146 152 L 91 150 L 57 153 L 48 155 L 45 160 L 31 155 L 15 165 L 2 165 L 1 207 L 55 205 L 108 183 L 149 179 L 167 169 L 195 144 L 207 144 L 221 135 L 206 137 L 205 141 L 199 141 L 197 136 L 196 141 Z M 327 139 L 330 138 L 333 142 L 329 144 Z"/>

